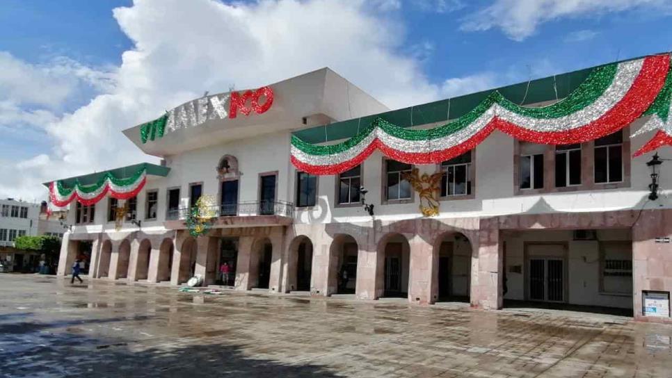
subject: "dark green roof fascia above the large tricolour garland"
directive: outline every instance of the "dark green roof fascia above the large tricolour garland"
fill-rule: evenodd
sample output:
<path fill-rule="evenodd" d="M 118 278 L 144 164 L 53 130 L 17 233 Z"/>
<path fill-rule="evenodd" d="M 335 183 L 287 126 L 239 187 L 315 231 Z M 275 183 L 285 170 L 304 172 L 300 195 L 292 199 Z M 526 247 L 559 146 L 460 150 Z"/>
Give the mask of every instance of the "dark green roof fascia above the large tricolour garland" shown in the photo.
<path fill-rule="evenodd" d="M 433 122 L 448 122 L 448 120 L 454 120 L 468 113 L 495 90 L 501 93 L 506 99 L 519 105 L 559 100 L 567 97 L 573 90 L 578 88 L 579 85 L 586 80 L 593 69 L 643 57 L 644 56 L 618 60 L 617 62 L 605 63 L 603 65 L 596 65 L 594 67 L 566 72 L 564 74 L 547 76 L 529 82 L 524 81 L 522 83 L 506 85 L 504 87 L 483 90 L 482 92 L 465 94 L 451 99 L 443 99 L 427 104 L 391 110 L 385 113 L 353 118 L 352 120 L 315 126 L 310 129 L 294 131 L 293 134 L 307 143 L 316 144 L 351 138 L 356 135 L 360 129 L 369 126 L 369 124 L 378 117 L 401 127 L 418 126 Z"/>

